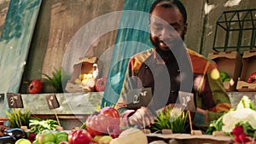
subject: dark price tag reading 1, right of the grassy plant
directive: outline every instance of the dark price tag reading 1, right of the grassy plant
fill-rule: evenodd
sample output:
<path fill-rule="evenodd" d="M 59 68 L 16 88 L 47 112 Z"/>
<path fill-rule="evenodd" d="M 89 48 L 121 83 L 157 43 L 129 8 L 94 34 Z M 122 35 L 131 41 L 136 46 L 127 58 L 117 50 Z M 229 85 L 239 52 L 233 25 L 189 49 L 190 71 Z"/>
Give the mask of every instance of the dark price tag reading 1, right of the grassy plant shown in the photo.
<path fill-rule="evenodd" d="M 181 104 L 181 107 L 185 107 L 186 110 L 191 112 L 196 112 L 194 95 L 192 93 L 179 91 L 178 100 Z"/>

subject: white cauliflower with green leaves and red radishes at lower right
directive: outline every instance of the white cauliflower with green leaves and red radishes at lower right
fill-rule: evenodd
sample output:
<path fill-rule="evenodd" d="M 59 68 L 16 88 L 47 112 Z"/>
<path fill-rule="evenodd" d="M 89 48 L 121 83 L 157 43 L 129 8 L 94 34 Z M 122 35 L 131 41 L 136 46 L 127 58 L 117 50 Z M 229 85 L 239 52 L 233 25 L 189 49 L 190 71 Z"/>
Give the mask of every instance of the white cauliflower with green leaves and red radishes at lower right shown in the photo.
<path fill-rule="evenodd" d="M 256 141 L 256 107 L 246 95 L 244 95 L 236 109 L 226 112 L 221 118 L 213 121 L 207 130 L 207 134 L 215 131 L 223 131 L 225 135 L 231 135 L 236 143 Z"/>

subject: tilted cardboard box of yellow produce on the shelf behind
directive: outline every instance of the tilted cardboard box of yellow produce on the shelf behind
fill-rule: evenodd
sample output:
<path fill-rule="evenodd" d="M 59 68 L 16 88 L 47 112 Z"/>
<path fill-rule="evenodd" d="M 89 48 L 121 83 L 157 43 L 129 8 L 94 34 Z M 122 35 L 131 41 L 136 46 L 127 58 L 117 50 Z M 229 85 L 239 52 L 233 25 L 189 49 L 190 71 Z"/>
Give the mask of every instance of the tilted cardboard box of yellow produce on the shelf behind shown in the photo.
<path fill-rule="evenodd" d="M 79 61 L 73 65 L 73 75 L 66 85 L 67 92 L 95 91 L 95 78 L 97 73 L 95 74 L 94 72 L 96 72 L 97 60 L 96 57 L 85 57 L 79 59 Z M 86 80 L 83 81 L 85 76 L 90 78 L 86 78 Z M 77 82 L 78 79 L 80 83 Z"/>

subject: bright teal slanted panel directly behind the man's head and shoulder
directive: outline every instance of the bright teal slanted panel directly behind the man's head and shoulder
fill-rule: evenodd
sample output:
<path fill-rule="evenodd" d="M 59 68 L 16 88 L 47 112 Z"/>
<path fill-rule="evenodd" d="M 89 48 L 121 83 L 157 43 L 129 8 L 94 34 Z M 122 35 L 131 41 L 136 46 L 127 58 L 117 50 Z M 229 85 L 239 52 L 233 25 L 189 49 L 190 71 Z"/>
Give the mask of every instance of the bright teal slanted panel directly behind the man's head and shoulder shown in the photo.
<path fill-rule="evenodd" d="M 153 2 L 154 0 L 125 0 L 102 107 L 113 106 L 118 101 L 131 56 L 152 48 L 149 40 L 148 18 Z"/>

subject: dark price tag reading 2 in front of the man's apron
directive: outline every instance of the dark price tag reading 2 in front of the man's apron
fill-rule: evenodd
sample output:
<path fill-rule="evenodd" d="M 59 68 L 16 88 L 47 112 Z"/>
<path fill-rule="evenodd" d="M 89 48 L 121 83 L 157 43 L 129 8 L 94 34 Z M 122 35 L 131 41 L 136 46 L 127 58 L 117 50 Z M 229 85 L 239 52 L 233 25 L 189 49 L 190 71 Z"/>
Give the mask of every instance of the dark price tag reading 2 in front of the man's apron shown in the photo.
<path fill-rule="evenodd" d="M 129 108 L 147 107 L 152 99 L 151 88 L 131 89 L 127 94 Z"/>

